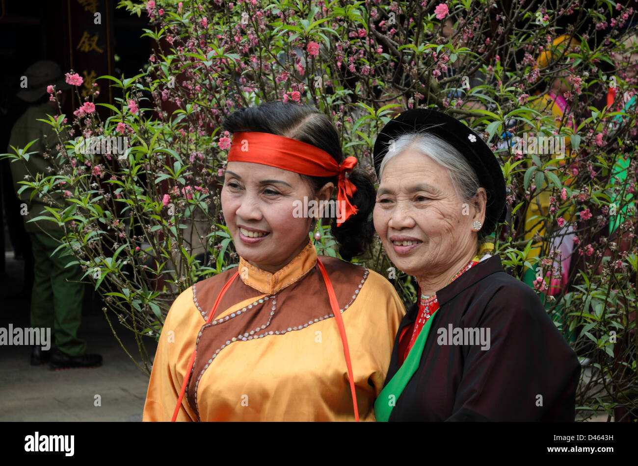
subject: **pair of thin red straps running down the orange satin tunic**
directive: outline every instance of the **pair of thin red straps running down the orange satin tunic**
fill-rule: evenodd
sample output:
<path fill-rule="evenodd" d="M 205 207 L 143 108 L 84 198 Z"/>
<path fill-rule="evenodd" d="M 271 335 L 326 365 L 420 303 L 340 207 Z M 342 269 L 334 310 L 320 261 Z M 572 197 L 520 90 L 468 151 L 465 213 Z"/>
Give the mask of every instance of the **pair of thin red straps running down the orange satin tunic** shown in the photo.
<path fill-rule="evenodd" d="M 334 288 L 332 288 L 332 283 L 330 283 L 330 278 L 328 277 L 328 273 L 325 271 L 325 267 L 323 267 L 322 262 L 317 258 L 317 265 L 319 266 L 319 270 L 323 276 L 323 281 L 325 282 L 325 287 L 328 290 L 328 297 L 330 299 L 330 307 L 332 307 L 332 314 L 334 314 L 334 318 L 337 321 L 337 326 L 339 327 L 339 334 L 341 335 L 341 342 L 343 343 L 343 354 L 346 357 L 346 366 L 348 367 L 348 378 L 350 379 L 350 391 L 352 392 L 352 404 L 355 411 L 355 421 L 359 422 L 359 408 L 357 407 L 357 393 L 355 392 L 355 383 L 354 378 L 352 376 L 352 362 L 350 360 L 350 350 L 348 349 L 348 339 L 346 338 L 346 329 L 343 325 L 343 318 L 341 317 L 341 311 L 339 310 L 339 302 L 337 301 L 337 297 L 334 294 Z M 212 316 L 217 310 L 217 306 L 219 305 L 219 301 L 221 297 L 224 295 L 230 283 L 235 279 L 235 277 L 239 274 L 235 272 L 235 274 L 228 280 L 228 283 L 224 285 L 215 301 L 214 306 L 212 306 L 211 313 L 206 320 L 206 323 L 209 323 L 212 320 Z M 193 355 L 191 356 L 191 360 L 188 364 L 188 370 L 184 375 L 184 381 L 182 383 L 182 389 L 179 393 L 179 399 L 177 400 L 177 406 L 175 406 L 175 411 L 173 413 L 173 418 L 171 422 L 175 422 L 177 419 L 177 413 L 179 413 L 179 407 L 182 405 L 182 399 L 184 399 L 184 393 L 186 393 L 186 384 L 188 383 L 188 379 L 190 377 L 190 373 L 193 370 L 193 364 L 195 364 L 195 352 L 197 350 L 193 350 Z"/>

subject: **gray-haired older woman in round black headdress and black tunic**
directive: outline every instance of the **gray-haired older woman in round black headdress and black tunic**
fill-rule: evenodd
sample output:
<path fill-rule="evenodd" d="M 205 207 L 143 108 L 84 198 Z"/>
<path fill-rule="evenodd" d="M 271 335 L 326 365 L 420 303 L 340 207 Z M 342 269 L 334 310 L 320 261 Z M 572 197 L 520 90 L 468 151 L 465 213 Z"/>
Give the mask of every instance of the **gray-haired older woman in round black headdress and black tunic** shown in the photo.
<path fill-rule="evenodd" d="M 380 421 L 573 421 L 580 365 L 538 296 L 503 271 L 484 239 L 503 215 L 493 153 L 463 123 L 412 109 L 375 143 L 376 232 L 415 276 Z"/>

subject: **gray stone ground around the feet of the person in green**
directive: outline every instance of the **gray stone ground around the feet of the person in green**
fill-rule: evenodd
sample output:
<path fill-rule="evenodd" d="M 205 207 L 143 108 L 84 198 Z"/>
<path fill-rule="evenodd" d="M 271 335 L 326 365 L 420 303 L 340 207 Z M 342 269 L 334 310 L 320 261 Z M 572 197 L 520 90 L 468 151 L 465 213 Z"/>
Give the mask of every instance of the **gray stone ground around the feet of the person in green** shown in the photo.
<path fill-rule="evenodd" d="M 6 277 L 0 285 L 0 327 L 29 327 L 29 296 L 22 288 L 24 262 L 6 253 Z M 11 296 L 13 294 L 13 296 Z M 148 377 L 124 353 L 90 290 L 85 294 L 80 337 L 87 352 L 99 353 L 95 369 L 51 371 L 29 364 L 28 346 L 0 346 L 0 421 L 141 421 Z M 114 323 L 117 325 L 117 323 Z M 118 332 L 124 346 L 139 359 L 132 333 Z M 147 351 L 156 345 L 147 339 Z M 101 406 L 94 406 L 100 395 Z"/>

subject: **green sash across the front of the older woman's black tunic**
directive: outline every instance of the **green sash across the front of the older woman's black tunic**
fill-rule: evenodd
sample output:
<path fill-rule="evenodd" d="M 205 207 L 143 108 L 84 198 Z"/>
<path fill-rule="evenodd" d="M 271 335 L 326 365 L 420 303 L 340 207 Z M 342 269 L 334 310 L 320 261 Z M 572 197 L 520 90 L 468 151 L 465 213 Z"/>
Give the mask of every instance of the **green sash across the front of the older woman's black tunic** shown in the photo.
<path fill-rule="evenodd" d="M 414 342 L 412 350 L 408 353 L 408 357 L 405 359 L 401 367 L 399 367 L 396 374 L 394 374 L 394 377 L 390 379 L 388 385 L 386 385 L 383 390 L 381 390 L 381 393 L 379 393 L 379 396 L 375 401 L 376 421 L 387 422 L 390 419 L 392 408 L 401 396 L 401 393 L 403 393 L 403 389 L 406 385 L 408 385 L 408 382 L 412 379 L 412 376 L 419 367 L 423 349 L 426 347 L 427 334 L 430 332 L 433 320 L 434 316 L 427 320 L 425 327 L 422 328 L 419 336 Z M 401 355 L 399 355 L 399 358 L 400 357 Z"/>

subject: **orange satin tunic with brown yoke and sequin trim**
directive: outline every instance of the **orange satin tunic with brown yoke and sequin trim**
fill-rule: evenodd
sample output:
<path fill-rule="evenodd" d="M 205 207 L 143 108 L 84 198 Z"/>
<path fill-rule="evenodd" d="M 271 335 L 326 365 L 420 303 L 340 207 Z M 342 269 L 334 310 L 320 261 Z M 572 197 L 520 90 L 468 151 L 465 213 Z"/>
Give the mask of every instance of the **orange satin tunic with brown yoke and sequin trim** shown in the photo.
<path fill-rule="evenodd" d="M 343 344 L 313 244 L 271 274 L 240 258 L 213 320 L 221 288 L 237 271 L 182 292 L 159 339 L 144 421 L 170 421 L 197 346 L 178 421 L 352 421 Z M 405 308 L 374 271 L 321 257 L 348 338 L 359 417 L 374 421 L 375 399 Z"/>

